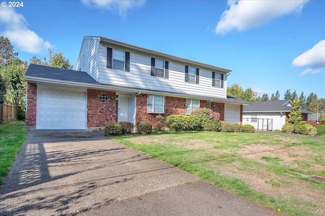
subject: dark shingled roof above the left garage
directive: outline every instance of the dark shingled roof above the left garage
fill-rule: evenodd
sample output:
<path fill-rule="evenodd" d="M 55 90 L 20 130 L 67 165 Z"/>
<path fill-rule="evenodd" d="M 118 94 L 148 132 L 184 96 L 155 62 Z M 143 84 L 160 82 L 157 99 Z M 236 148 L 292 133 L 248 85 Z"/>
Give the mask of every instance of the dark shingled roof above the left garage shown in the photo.
<path fill-rule="evenodd" d="M 98 84 L 86 72 L 49 67 L 37 64 L 29 64 L 25 77 L 37 77 L 51 80 L 62 80 L 68 82 Z"/>

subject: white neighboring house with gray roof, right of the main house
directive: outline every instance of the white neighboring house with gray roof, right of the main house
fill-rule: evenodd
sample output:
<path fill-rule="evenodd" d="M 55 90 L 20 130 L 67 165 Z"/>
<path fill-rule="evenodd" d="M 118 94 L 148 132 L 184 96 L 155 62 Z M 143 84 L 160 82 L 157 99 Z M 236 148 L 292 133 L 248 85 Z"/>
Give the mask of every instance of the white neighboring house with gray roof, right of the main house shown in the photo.
<path fill-rule="evenodd" d="M 253 125 L 256 130 L 281 130 L 293 110 L 290 100 L 258 101 L 243 106 L 243 125 Z M 303 121 L 312 112 L 300 110 Z"/>

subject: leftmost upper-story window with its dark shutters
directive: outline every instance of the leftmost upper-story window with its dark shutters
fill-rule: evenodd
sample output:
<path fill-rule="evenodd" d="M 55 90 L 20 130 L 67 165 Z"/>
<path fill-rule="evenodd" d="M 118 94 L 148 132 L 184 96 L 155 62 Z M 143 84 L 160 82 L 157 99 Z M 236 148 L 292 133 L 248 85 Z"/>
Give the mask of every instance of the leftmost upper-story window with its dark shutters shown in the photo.
<path fill-rule="evenodd" d="M 130 71 L 130 53 L 108 47 L 107 68 Z"/>

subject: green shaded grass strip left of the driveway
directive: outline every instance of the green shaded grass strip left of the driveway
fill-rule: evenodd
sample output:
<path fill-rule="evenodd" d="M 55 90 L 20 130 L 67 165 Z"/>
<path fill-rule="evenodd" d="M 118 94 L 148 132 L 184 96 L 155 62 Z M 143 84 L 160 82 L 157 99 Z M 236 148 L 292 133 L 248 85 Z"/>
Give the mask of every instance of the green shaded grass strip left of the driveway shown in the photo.
<path fill-rule="evenodd" d="M 27 135 L 25 122 L 14 121 L 0 125 L 0 185 L 19 153 Z"/>

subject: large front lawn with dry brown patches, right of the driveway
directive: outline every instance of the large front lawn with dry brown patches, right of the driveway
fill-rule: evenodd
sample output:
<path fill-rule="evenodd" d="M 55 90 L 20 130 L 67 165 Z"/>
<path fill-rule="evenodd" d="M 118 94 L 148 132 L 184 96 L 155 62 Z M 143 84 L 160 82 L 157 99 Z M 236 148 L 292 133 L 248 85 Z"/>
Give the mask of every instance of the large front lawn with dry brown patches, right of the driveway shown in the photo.
<path fill-rule="evenodd" d="M 260 133 L 165 132 L 114 138 L 288 215 L 324 215 L 325 142 Z"/>

